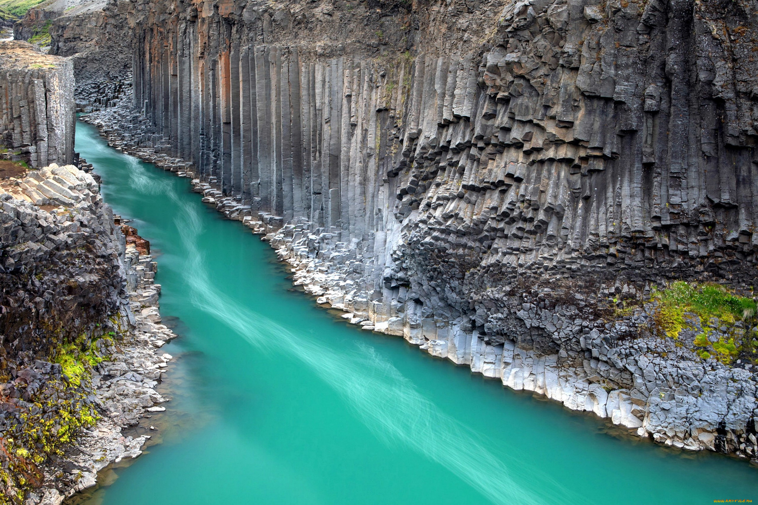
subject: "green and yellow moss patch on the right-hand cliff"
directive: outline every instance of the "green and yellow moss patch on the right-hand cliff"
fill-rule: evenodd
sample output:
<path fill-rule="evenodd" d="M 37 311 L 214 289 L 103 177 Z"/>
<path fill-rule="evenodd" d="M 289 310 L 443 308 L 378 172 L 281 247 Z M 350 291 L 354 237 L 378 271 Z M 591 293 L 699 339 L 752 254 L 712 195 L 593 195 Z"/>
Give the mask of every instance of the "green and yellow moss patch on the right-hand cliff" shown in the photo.
<path fill-rule="evenodd" d="M 675 282 L 665 290 L 653 290 L 656 302 L 653 325 L 661 334 L 677 340 L 685 328 L 700 331 L 693 340 L 702 359 L 716 357 L 730 364 L 738 356 L 756 359 L 756 302 L 713 283 Z M 756 356 L 753 356 L 756 355 Z"/>

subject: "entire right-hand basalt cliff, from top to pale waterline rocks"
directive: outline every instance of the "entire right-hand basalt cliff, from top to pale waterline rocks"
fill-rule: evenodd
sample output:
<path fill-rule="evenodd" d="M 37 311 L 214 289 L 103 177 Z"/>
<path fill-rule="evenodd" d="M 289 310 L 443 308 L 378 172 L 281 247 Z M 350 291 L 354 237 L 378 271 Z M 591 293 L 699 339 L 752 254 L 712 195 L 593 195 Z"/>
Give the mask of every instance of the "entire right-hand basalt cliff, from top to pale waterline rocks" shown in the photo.
<path fill-rule="evenodd" d="M 752 365 L 695 350 L 754 329 L 667 335 L 646 300 L 677 279 L 752 294 L 756 7 L 116 2 L 133 101 L 89 121 L 196 177 L 352 322 L 755 457 Z"/>

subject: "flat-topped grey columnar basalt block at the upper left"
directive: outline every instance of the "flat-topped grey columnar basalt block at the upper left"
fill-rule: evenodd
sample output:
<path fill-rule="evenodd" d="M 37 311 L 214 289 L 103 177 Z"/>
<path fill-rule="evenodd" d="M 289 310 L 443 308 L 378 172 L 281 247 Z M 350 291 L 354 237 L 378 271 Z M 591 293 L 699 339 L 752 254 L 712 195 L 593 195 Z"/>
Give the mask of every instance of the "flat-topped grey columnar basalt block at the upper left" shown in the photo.
<path fill-rule="evenodd" d="M 0 144 L 30 166 L 74 159 L 74 72 L 70 61 L 27 42 L 0 42 Z"/>

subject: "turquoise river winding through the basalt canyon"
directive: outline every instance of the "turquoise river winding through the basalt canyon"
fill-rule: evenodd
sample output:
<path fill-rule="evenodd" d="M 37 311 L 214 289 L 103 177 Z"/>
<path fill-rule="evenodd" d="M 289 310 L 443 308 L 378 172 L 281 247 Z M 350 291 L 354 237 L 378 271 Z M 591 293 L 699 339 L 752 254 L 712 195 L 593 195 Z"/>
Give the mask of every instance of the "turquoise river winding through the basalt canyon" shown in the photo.
<path fill-rule="evenodd" d="M 348 327 L 291 289 L 273 250 L 189 180 L 108 148 L 77 151 L 150 240 L 180 338 L 162 441 L 94 505 L 713 503 L 758 499 L 756 469 L 612 436 L 597 418 L 504 390 L 398 337 Z"/>

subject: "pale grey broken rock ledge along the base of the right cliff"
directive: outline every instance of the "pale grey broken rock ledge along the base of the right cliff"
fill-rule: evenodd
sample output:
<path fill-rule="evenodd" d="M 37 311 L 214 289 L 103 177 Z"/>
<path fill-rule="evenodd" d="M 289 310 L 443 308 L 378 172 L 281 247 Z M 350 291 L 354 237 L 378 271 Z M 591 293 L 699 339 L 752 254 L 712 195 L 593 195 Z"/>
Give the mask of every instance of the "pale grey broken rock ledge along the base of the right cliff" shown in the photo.
<path fill-rule="evenodd" d="M 215 177 L 196 177 L 193 164 L 169 155 L 168 140 L 152 133 L 149 121 L 128 105 L 89 114 L 86 121 L 100 127 L 117 149 L 193 177 L 204 202 L 265 234 L 280 259 L 292 266 L 295 283 L 317 296 L 318 303 L 343 310 L 349 322 L 402 336 L 434 356 L 468 365 L 515 390 L 543 394 L 569 409 L 594 412 L 632 434 L 755 459 L 756 370 L 747 359 L 725 364 L 718 356 L 704 358 L 696 345 L 700 334 L 721 341 L 754 328 L 740 322 L 725 327 L 719 320 L 702 322 L 689 314 L 686 328 L 671 337 L 659 328 L 660 302 L 650 301 L 652 285 L 623 281 L 598 283 L 590 296 L 571 292 L 559 279 L 552 287 L 523 286 L 518 306 L 511 306 L 513 296 L 503 297 L 508 311 L 499 321 L 487 319 L 484 311 L 481 322 L 431 317 L 434 309 L 444 309 L 443 302 L 430 307 L 407 281 L 399 281 L 398 271 L 383 276 L 387 289 L 395 290 L 393 296 L 375 296 L 371 256 L 356 249 L 349 234 L 304 218 L 285 222 L 253 212 L 240 197 L 224 196 Z M 402 262 L 399 252 L 393 254 L 395 262 Z M 626 308 L 603 312 L 607 298 Z"/>

